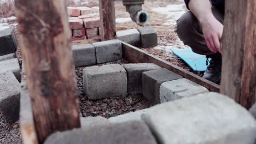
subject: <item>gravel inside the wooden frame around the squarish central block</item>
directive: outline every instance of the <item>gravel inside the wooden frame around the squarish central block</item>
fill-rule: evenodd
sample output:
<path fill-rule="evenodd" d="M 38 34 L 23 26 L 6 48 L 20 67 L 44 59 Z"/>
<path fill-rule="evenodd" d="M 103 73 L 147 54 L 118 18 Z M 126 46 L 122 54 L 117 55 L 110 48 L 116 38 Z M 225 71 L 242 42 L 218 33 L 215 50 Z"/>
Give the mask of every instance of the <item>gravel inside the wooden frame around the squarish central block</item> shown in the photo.
<path fill-rule="evenodd" d="M 124 64 L 124 61 L 111 62 L 107 64 Z M 102 64 L 101 64 L 102 65 Z M 127 95 L 127 97 L 114 97 L 101 100 L 89 100 L 83 90 L 83 69 L 79 67 L 75 69 L 77 74 L 77 84 L 79 88 L 79 107 L 83 117 L 102 116 L 114 117 L 124 113 L 146 109 L 153 106 L 143 95 Z"/>

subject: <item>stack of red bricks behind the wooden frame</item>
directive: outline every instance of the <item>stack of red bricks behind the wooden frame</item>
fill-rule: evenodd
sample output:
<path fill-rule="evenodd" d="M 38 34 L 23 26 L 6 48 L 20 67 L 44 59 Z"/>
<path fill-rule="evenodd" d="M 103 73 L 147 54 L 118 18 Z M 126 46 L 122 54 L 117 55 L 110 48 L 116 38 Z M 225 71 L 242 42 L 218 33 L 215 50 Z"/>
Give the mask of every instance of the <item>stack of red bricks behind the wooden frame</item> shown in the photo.
<path fill-rule="evenodd" d="M 67 7 L 71 40 L 100 38 L 100 14 L 98 7 Z"/>

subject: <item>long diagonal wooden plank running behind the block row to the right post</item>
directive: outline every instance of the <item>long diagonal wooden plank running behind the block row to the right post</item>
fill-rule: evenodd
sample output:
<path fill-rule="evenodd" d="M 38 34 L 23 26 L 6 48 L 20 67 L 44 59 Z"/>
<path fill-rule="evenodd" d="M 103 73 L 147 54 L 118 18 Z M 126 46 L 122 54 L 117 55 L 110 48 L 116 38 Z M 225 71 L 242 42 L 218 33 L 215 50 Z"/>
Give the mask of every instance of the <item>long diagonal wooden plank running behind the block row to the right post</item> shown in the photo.
<path fill-rule="evenodd" d="M 122 42 L 122 44 L 123 44 L 123 58 L 131 63 L 155 63 L 162 68 L 171 70 L 174 73 L 177 73 L 186 79 L 194 81 L 195 83 L 198 83 L 199 85 L 202 85 L 208 88 L 212 92 L 219 92 L 220 86 L 217 85 L 216 83 L 203 79 L 200 76 L 197 76 L 193 73 L 190 73 L 187 70 L 179 68 L 177 65 L 164 61 L 161 58 L 153 56 L 148 52 L 138 49 L 135 46 L 132 46 L 125 42 Z"/>

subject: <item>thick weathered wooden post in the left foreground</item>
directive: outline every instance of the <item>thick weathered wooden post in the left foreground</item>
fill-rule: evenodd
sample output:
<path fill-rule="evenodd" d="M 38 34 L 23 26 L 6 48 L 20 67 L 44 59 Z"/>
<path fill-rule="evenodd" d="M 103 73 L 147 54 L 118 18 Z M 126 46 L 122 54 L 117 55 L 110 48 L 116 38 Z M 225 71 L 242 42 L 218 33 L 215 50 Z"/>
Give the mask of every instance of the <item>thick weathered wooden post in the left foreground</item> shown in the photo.
<path fill-rule="evenodd" d="M 16 16 L 39 143 L 80 127 L 71 33 L 63 0 L 16 0 Z"/>

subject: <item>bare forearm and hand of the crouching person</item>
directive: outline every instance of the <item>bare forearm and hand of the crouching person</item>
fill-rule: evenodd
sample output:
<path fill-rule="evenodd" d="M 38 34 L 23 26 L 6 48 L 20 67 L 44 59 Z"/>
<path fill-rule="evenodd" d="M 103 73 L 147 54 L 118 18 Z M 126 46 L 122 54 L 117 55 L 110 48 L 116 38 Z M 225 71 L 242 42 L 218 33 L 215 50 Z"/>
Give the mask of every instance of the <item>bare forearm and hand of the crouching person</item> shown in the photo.
<path fill-rule="evenodd" d="M 190 0 L 188 7 L 202 25 L 203 36 L 212 52 L 220 51 L 223 25 L 212 14 L 212 5 L 209 0 Z"/>

